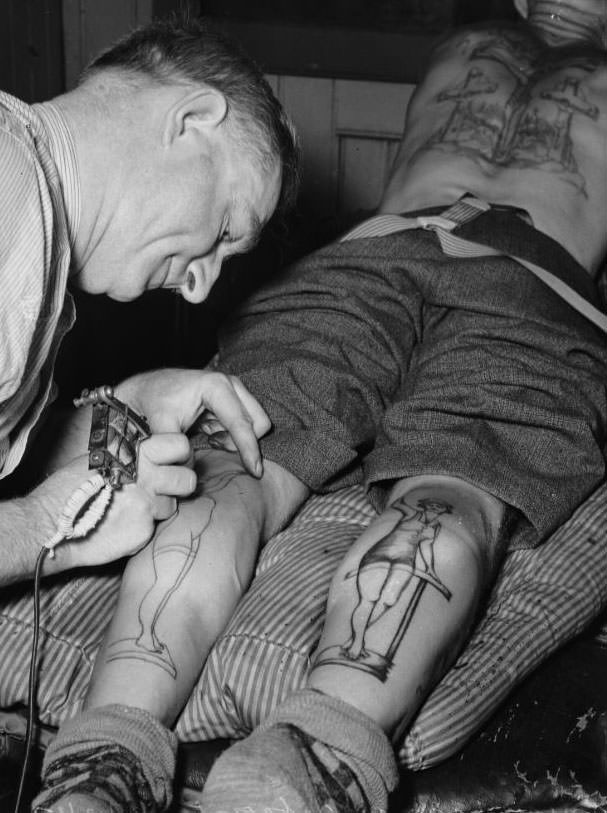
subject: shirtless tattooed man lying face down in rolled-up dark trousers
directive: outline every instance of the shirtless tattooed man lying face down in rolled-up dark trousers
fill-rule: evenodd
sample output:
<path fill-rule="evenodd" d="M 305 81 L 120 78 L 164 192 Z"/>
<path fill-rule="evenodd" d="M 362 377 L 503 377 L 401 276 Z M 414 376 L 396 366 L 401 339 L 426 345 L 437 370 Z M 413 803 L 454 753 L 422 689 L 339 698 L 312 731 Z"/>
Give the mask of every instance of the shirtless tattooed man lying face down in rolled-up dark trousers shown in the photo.
<path fill-rule="evenodd" d="M 222 369 L 273 422 L 264 477 L 201 453 L 200 496 L 129 564 L 47 788 L 83 734 L 111 742 L 108 704 L 172 723 L 259 540 L 362 471 L 379 513 L 333 578 L 306 686 L 218 759 L 200 803 L 385 810 L 391 740 L 466 641 L 504 553 L 541 544 L 605 478 L 607 342 L 588 314 L 607 246 L 607 2 L 516 5 L 526 22 L 443 42 L 410 103 L 380 213 L 417 227 L 363 224 L 226 329 Z M 108 800 L 89 809 L 114 809 L 118 783 L 87 776 Z"/>

